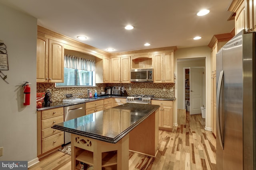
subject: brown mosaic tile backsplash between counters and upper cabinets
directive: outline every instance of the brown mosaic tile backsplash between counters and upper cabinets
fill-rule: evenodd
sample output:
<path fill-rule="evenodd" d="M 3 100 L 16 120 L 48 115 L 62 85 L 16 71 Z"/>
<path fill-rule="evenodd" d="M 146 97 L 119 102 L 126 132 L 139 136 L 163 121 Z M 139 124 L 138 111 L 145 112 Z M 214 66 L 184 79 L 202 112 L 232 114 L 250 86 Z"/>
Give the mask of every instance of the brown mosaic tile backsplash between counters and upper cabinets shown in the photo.
<path fill-rule="evenodd" d="M 76 97 L 87 97 L 87 89 L 97 90 L 98 93 L 104 92 L 106 87 L 124 86 L 128 95 L 132 94 L 148 94 L 154 95 L 157 98 L 170 98 L 174 97 L 173 83 L 152 83 L 152 82 L 136 82 L 136 83 L 100 83 L 96 87 L 64 87 L 56 88 L 54 83 L 37 83 L 36 92 L 46 92 L 46 89 L 52 89 L 52 101 L 61 101 L 66 98 L 65 94 L 76 94 Z M 129 88 L 131 90 L 129 90 Z M 164 91 L 164 88 L 166 91 Z M 103 90 L 101 90 L 103 89 Z"/>

